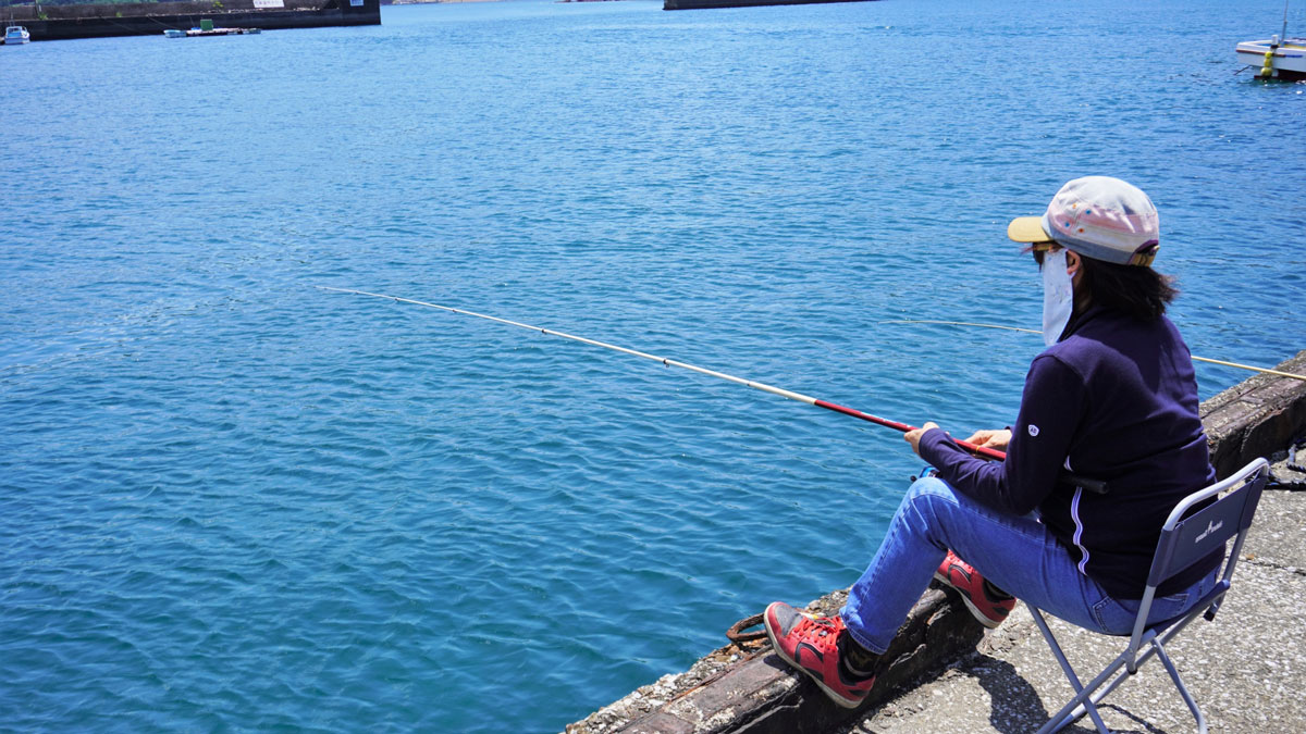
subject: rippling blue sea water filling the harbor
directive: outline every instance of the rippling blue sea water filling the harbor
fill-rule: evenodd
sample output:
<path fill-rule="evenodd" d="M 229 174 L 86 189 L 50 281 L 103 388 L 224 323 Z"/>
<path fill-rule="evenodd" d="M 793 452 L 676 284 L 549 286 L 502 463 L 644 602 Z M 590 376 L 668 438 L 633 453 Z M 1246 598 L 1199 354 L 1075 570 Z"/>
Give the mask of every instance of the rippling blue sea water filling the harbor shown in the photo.
<path fill-rule="evenodd" d="M 0 48 L 0 729 L 556 731 L 859 573 L 901 436 L 1041 295 L 1007 219 L 1161 210 L 1198 355 L 1306 346 L 1277 0 L 387 7 Z M 1293 9 L 1290 30 L 1306 30 Z M 1203 397 L 1245 372 L 1202 364 Z"/>

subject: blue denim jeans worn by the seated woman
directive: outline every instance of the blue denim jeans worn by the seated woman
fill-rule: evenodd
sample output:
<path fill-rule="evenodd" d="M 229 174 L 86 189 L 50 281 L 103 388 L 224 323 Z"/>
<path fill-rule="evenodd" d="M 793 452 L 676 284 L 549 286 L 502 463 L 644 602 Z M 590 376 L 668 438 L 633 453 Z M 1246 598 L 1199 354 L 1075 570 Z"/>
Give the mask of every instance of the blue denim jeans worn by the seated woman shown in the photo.
<path fill-rule="evenodd" d="M 840 616 L 853 639 L 871 652 L 887 650 L 948 549 L 1002 590 L 1049 614 L 1106 635 L 1134 630 L 1139 601 L 1114 599 L 1080 573 L 1070 550 L 1036 517 L 990 509 L 926 477 L 908 490 L 875 559 L 849 589 Z M 1183 614 L 1216 580 L 1212 571 L 1178 594 L 1157 597 L 1148 622 Z"/>

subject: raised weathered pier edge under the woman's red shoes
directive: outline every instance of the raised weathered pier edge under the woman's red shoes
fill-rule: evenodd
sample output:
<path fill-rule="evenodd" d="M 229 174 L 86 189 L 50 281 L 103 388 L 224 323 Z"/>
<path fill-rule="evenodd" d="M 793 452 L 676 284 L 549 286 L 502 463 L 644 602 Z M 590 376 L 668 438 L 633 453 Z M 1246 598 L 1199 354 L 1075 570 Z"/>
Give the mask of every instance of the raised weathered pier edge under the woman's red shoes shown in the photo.
<path fill-rule="evenodd" d="M 1306 350 L 1275 370 L 1306 374 Z M 1200 406 L 1211 462 L 1225 477 L 1258 456 L 1273 462 L 1272 488 L 1306 490 L 1306 381 L 1258 374 Z M 808 605 L 833 614 L 846 590 Z M 866 718 L 876 708 L 938 677 L 973 653 L 985 637 L 952 592 L 935 584 L 921 597 L 889 649 L 893 662 L 857 709 L 836 707 L 815 684 L 771 653 L 763 639 L 731 643 L 690 670 L 640 687 L 567 726 L 567 734 L 827 733 Z"/>

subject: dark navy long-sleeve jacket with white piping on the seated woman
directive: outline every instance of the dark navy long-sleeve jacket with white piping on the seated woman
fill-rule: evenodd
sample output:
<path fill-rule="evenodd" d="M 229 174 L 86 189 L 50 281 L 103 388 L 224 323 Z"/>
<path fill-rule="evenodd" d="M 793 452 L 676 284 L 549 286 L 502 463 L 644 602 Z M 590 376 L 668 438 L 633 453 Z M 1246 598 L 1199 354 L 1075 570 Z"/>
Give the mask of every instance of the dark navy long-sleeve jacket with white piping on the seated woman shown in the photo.
<path fill-rule="evenodd" d="M 1104 308 L 1088 310 L 1029 366 L 1006 461 L 974 458 L 938 428 L 919 448 L 956 491 L 1012 515 L 1037 509 L 1080 572 L 1122 599 L 1143 596 L 1174 505 L 1215 482 L 1179 332 L 1164 316 L 1144 323 Z M 1105 479 L 1110 491 L 1058 483 L 1062 470 Z M 1158 594 L 1216 564 L 1218 555 L 1198 563 Z"/>

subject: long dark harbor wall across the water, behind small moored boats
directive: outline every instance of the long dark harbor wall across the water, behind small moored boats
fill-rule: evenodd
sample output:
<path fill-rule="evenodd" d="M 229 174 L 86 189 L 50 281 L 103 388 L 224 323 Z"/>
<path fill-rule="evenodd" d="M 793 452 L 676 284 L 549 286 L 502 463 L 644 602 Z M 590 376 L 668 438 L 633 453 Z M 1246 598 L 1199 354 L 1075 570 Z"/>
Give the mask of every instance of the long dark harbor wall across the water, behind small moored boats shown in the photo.
<path fill-rule="evenodd" d="M 282 0 L 282 8 L 255 8 L 253 0 L 195 3 L 131 3 L 121 5 L 14 5 L 13 24 L 27 27 L 31 40 L 68 40 L 115 35 L 162 35 L 212 20 L 219 27 L 329 27 L 380 25 L 380 0 Z"/>

